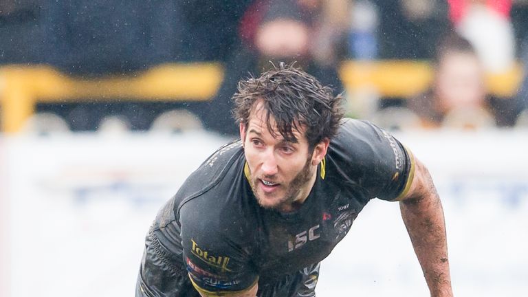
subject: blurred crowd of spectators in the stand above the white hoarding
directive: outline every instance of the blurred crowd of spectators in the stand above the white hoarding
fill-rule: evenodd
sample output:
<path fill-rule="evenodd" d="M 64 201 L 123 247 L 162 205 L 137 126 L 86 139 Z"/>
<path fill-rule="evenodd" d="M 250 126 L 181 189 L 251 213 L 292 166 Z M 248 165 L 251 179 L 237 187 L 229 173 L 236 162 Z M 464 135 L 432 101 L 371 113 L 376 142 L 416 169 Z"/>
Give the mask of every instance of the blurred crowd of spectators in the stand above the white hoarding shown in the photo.
<path fill-rule="evenodd" d="M 496 96 L 485 83 L 486 74 L 528 67 L 527 32 L 526 0 L 2 0 L 0 64 L 98 78 L 219 62 L 224 80 L 208 102 L 94 100 L 39 104 L 37 111 L 91 131 L 108 117 L 126 129 L 150 129 L 178 109 L 186 113 L 171 114 L 196 115 L 207 129 L 234 135 L 236 82 L 272 63 L 296 63 L 338 93 L 343 61 L 430 61 L 432 83 L 423 94 L 370 98 L 373 112 L 352 106 L 349 115 L 389 129 L 480 129 L 528 126 L 528 77 L 512 96 Z"/>

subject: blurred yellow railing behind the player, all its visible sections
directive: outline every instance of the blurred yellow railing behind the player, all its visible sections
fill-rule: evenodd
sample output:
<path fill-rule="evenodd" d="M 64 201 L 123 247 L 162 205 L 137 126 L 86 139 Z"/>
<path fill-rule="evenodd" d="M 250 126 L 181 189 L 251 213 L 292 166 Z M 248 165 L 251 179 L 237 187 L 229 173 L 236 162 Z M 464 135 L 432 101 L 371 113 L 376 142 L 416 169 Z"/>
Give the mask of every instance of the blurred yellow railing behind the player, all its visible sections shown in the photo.
<path fill-rule="evenodd" d="M 432 68 L 425 61 L 344 61 L 340 77 L 348 91 L 373 87 L 382 97 L 407 98 L 426 90 Z M 516 65 L 500 75 L 488 75 L 492 94 L 513 96 L 522 79 Z M 39 102 L 83 100 L 203 101 L 217 93 L 223 80 L 218 63 L 166 64 L 131 76 L 72 78 L 46 66 L 0 68 L 2 131 L 19 131 Z"/>

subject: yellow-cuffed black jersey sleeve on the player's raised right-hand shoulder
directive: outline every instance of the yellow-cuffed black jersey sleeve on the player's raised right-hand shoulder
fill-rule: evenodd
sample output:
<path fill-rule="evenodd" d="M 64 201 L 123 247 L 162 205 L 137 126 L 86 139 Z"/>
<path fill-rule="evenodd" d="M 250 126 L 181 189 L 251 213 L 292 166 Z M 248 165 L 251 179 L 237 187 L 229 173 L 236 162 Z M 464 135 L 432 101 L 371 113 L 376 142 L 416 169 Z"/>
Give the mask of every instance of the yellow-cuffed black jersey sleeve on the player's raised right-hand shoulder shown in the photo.
<path fill-rule="evenodd" d="M 392 201 L 407 194 L 414 157 L 387 131 L 370 122 L 347 120 L 331 147 L 345 178 L 364 188 L 370 198 Z"/>

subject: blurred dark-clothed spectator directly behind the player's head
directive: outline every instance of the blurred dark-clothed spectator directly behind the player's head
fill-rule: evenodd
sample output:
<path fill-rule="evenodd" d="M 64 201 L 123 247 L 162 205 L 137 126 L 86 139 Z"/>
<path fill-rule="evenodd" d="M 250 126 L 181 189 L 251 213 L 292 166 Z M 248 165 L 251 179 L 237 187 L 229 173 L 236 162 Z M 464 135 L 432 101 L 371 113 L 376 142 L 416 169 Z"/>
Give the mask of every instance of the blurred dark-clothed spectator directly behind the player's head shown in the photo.
<path fill-rule="evenodd" d="M 206 126 L 229 135 L 239 131 L 230 117 L 236 82 L 272 67 L 270 61 L 296 61 L 325 85 L 340 90 L 349 23 L 347 0 L 255 0 L 241 19 L 241 42 L 226 63 L 225 80 L 210 103 Z"/>

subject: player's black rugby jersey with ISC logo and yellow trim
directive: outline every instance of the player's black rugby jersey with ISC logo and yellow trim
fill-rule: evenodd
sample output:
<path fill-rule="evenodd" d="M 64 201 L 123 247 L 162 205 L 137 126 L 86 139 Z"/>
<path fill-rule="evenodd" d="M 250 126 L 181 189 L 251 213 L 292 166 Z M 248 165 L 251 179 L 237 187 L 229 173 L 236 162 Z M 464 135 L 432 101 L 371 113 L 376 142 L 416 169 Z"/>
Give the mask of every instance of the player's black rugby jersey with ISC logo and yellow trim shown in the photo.
<path fill-rule="evenodd" d="M 232 142 L 203 162 L 160 210 L 151 229 L 159 245 L 157 266 L 172 275 L 188 273 L 205 292 L 239 291 L 257 281 L 259 292 L 270 286 L 276 291 L 281 282 L 294 283 L 287 279 L 298 277 L 294 272 L 325 259 L 370 199 L 405 195 L 412 160 L 377 126 L 344 120 L 309 196 L 295 212 L 282 213 L 259 206 L 241 141 Z"/>

